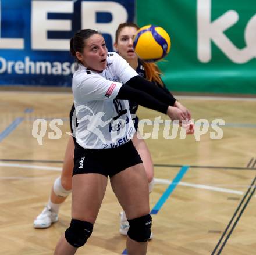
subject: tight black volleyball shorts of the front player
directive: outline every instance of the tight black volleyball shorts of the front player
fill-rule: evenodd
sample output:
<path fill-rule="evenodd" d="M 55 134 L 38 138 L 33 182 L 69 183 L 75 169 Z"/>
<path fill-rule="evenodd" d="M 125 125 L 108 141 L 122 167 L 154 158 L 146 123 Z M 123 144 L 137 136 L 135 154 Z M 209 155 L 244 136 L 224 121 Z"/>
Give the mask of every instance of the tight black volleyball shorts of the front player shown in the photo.
<path fill-rule="evenodd" d="M 140 163 L 143 162 L 131 140 L 112 149 L 84 149 L 75 142 L 73 175 L 97 173 L 112 177 Z"/>

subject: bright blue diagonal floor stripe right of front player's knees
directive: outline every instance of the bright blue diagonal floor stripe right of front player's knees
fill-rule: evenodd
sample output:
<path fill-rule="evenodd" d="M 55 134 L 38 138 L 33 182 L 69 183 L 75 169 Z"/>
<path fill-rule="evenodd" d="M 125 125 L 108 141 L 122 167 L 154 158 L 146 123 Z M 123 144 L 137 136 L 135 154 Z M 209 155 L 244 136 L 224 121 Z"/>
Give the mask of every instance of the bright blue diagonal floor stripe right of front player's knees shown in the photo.
<path fill-rule="evenodd" d="M 162 194 L 160 199 L 158 200 L 157 204 L 153 207 L 150 214 L 157 214 L 158 211 L 162 208 L 163 204 L 165 204 L 166 200 L 172 195 L 172 192 L 175 190 L 176 186 L 179 184 L 180 180 L 186 174 L 187 170 L 189 170 L 189 166 L 182 166 L 180 168 L 179 173 L 177 173 L 176 177 L 170 183 L 166 191 Z"/>

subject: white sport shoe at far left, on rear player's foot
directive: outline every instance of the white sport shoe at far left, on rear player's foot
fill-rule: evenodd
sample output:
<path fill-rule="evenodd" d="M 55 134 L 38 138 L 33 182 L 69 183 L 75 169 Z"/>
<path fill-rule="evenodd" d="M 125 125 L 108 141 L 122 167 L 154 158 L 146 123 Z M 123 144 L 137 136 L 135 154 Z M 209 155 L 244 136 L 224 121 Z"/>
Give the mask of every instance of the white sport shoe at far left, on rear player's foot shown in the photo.
<path fill-rule="evenodd" d="M 58 221 L 58 214 L 54 211 L 51 211 L 49 206 L 45 206 L 42 213 L 40 213 L 37 218 L 34 220 L 33 227 L 34 228 L 48 228 Z"/>

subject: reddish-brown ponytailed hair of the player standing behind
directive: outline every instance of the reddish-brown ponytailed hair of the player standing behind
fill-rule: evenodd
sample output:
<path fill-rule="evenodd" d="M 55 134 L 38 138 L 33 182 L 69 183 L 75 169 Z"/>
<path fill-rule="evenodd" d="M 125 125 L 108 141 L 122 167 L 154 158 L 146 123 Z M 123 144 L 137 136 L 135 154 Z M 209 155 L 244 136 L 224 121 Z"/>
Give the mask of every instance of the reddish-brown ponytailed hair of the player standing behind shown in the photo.
<path fill-rule="evenodd" d="M 116 38 L 115 38 L 115 42 L 116 44 L 118 43 L 118 37 L 122 31 L 123 28 L 125 27 L 134 27 L 137 30 L 140 29 L 140 27 L 138 27 L 137 24 L 132 23 L 132 22 L 126 22 L 126 23 L 121 23 L 118 26 L 118 29 L 116 30 Z M 151 82 L 157 82 L 158 84 L 163 86 L 163 82 L 161 80 L 160 75 L 162 74 L 161 71 L 159 70 L 157 64 L 155 63 L 145 63 L 144 61 L 141 61 L 146 73 L 146 78 L 148 81 Z"/>

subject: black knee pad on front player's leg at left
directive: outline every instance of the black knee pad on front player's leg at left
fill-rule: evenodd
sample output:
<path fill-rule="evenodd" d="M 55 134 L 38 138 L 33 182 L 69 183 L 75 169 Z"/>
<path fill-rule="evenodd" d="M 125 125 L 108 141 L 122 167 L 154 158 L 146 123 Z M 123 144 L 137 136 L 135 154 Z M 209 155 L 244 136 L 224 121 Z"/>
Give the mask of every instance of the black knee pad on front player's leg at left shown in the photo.
<path fill-rule="evenodd" d="M 92 232 L 93 224 L 90 222 L 72 219 L 65 238 L 70 245 L 79 248 L 86 243 Z"/>

